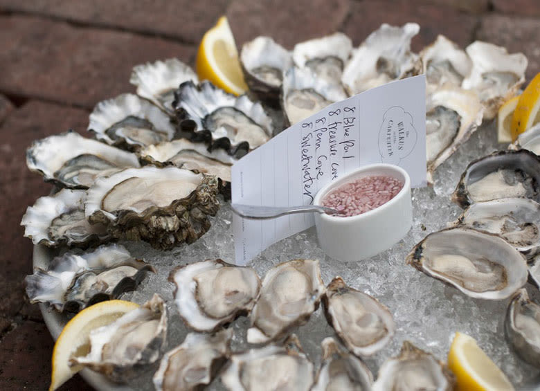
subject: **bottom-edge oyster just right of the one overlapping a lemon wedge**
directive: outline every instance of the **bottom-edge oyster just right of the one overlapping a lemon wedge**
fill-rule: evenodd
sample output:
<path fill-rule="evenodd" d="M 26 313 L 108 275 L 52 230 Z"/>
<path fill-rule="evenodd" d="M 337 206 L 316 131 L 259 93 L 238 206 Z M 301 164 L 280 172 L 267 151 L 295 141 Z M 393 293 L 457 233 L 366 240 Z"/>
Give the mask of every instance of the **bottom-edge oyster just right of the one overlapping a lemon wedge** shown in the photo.
<path fill-rule="evenodd" d="M 226 361 L 233 329 L 215 334 L 190 333 L 161 358 L 154 374 L 157 391 L 198 390 L 210 384 Z"/>

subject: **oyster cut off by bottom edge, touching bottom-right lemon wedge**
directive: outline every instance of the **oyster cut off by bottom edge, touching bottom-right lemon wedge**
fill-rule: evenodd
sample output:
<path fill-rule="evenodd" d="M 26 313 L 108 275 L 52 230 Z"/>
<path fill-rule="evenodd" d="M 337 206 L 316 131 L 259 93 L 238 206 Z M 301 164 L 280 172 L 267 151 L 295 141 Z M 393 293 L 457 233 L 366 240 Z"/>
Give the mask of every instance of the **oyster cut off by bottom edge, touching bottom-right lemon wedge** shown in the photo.
<path fill-rule="evenodd" d="M 456 378 L 444 363 L 406 340 L 399 356 L 388 358 L 380 367 L 372 391 L 451 391 L 455 385 Z"/>

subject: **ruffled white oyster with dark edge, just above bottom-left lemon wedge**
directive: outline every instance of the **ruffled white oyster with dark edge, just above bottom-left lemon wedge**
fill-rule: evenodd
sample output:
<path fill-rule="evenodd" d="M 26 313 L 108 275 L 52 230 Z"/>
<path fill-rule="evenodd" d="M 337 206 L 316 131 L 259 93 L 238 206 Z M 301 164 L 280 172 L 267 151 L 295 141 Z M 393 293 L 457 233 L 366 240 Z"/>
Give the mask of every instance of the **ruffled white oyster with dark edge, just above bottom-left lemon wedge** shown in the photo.
<path fill-rule="evenodd" d="M 100 246 L 87 253 L 55 257 L 48 269 L 27 275 L 30 302 L 46 302 L 58 311 L 78 312 L 87 305 L 132 291 L 154 268 L 136 260 L 124 246 Z"/>

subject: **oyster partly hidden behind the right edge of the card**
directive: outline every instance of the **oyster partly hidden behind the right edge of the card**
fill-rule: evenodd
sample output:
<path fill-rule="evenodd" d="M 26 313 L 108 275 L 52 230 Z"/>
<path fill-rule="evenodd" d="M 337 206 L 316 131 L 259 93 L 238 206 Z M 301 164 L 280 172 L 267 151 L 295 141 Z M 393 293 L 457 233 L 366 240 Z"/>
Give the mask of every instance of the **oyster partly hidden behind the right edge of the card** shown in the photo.
<path fill-rule="evenodd" d="M 482 123 L 483 107 L 476 93 L 452 84 L 435 89 L 426 105 L 428 182 L 433 183 L 435 169 Z"/>

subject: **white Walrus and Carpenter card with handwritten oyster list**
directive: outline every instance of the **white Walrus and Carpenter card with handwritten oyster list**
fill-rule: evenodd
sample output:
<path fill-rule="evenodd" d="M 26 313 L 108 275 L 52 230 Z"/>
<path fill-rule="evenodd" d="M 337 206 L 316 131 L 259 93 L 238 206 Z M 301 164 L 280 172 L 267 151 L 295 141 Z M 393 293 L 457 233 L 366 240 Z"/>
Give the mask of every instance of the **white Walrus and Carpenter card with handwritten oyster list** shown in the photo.
<path fill-rule="evenodd" d="M 411 185 L 426 184 L 424 75 L 352 96 L 296 123 L 232 168 L 232 202 L 253 206 L 312 203 L 329 181 L 362 165 L 399 165 Z M 310 213 L 269 220 L 233 216 L 235 263 L 314 225 Z"/>

